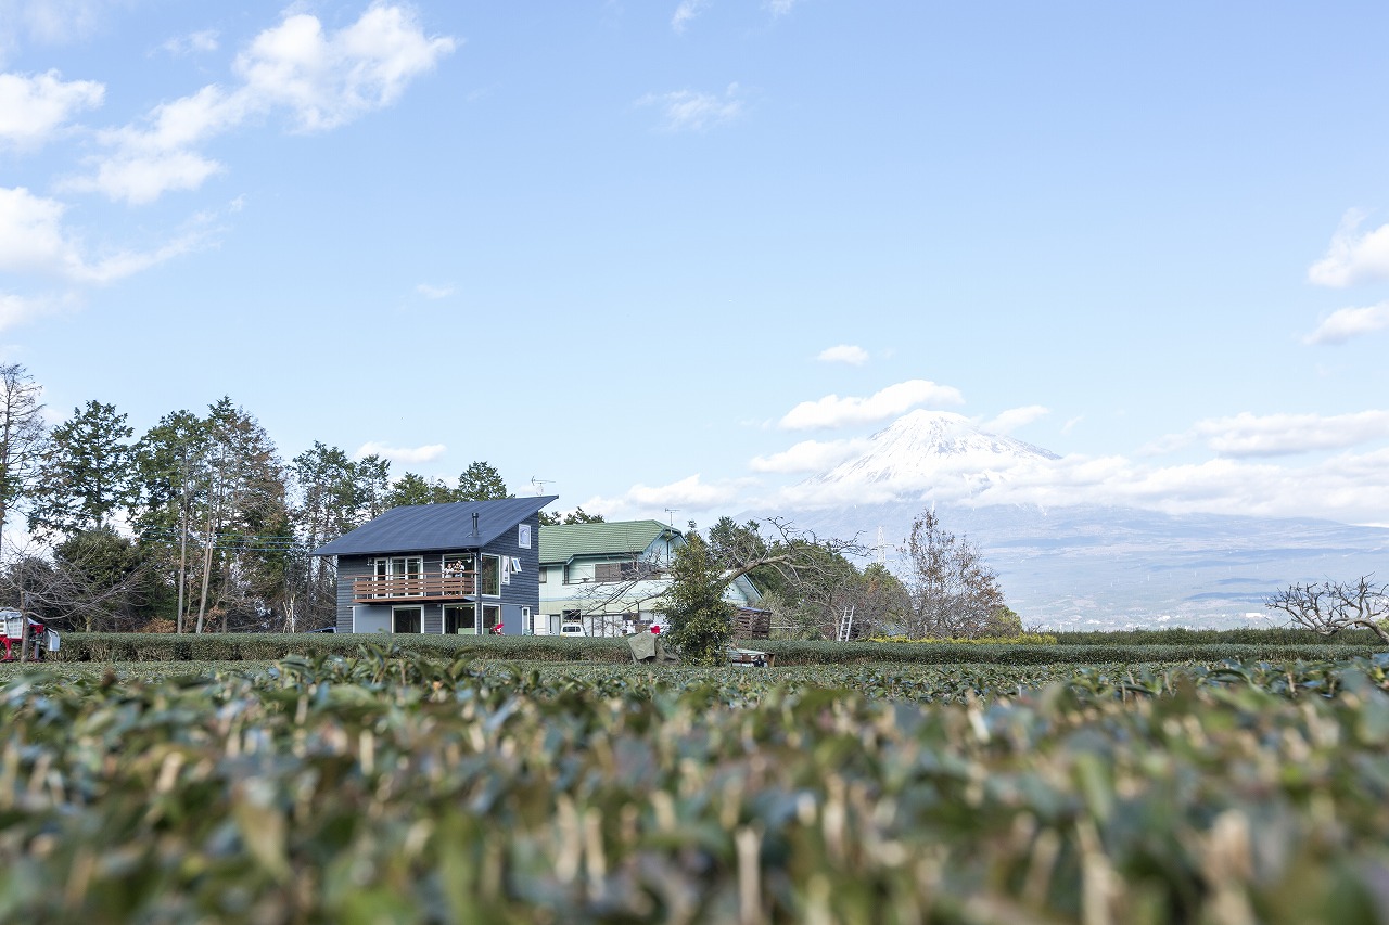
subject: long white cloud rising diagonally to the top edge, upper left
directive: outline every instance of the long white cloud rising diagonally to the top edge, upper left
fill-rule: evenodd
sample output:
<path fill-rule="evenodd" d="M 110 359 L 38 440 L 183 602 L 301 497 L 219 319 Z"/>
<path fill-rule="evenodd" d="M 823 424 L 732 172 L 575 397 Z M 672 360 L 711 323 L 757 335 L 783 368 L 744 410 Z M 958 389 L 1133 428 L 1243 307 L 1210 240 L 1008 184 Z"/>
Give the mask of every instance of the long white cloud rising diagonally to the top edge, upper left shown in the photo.
<path fill-rule="evenodd" d="M 236 57 L 239 86 L 204 86 L 154 107 L 139 124 L 103 132 L 107 153 L 90 160 L 90 174 L 63 186 L 132 204 L 197 189 L 225 169 L 196 150 L 207 140 L 276 110 L 286 110 L 299 131 L 343 125 L 394 103 L 454 47 L 450 38 L 426 36 L 403 7 L 372 4 L 331 33 L 315 17 L 288 14 Z"/>

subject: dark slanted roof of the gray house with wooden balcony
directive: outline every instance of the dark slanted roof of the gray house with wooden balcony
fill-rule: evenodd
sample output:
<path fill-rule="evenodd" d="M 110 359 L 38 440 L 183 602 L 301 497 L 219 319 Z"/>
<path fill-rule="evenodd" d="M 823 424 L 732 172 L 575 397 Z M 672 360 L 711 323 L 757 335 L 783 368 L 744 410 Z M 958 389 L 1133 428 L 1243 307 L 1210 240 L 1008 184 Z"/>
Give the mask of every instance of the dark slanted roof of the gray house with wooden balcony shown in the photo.
<path fill-rule="evenodd" d="M 314 550 L 314 556 L 424 553 L 481 549 L 554 501 L 557 494 L 508 497 L 497 501 L 453 501 L 393 507 Z M 478 532 L 472 532 L 472 515 Z"/>

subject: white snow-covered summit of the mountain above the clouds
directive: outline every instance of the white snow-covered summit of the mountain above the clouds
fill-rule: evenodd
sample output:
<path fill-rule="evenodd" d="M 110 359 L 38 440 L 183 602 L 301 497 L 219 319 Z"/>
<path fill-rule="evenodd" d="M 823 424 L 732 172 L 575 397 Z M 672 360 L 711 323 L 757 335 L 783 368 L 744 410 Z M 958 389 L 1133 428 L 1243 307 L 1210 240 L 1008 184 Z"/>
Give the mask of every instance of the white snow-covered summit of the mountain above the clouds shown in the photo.
<path fill-rule="evenodd" d="M 960 414 L 921 410 L 874 433 L 861 456 L 804 485 L 888 483 L 907 489 L 929 485 L 943 471 L 986 475 L 1056 458 L 1042 447 L 982 431 Z"/>

